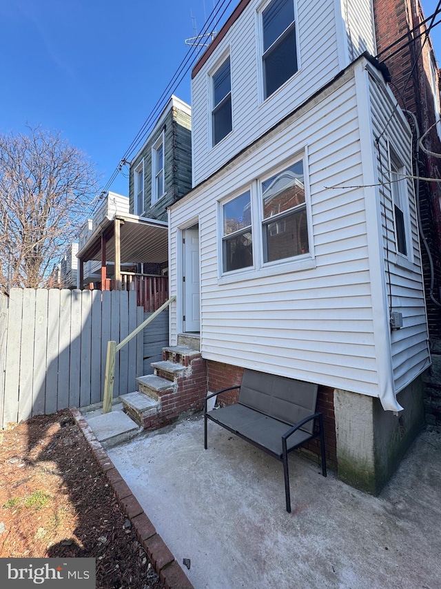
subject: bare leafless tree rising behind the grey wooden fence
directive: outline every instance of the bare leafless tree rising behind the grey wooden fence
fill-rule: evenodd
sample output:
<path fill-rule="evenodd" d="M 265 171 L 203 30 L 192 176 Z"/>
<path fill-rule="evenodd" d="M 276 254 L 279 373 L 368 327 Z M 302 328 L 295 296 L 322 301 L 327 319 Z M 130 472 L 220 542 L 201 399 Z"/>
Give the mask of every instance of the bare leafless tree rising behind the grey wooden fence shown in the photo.
<path fill-rule="evenodd" d="M 94 191 L 94 166 L 61 133 L 0 135 L 0 285 L 50 286 Z"/>

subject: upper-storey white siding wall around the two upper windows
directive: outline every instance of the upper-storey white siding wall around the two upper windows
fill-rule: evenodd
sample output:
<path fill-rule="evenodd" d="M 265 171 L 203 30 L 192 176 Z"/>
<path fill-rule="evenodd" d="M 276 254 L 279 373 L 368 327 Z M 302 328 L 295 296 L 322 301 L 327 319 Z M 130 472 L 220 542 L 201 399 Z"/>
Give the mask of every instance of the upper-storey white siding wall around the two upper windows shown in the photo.
<path fill-rule="evenodd" d="M 347 12 L 351 39 L 356 39 L 360 48 L 357 52 L 351 46 L 355 58 L 366 47 L 374 47 L 371 0 L 347 0 L 347 3 L 351 8 Z M 260 0 L 249 3 L 192 82 L 194 186 L 314 95 L 352 59 L 342 33 L 346 29 L 344 6 L 336 0 L 298 0 L 296 31 L 300 69 L 262 102 L 260 50 L 256 39 L 256 10 L 260 5 Z M 227 51 L 232 66 L 233 131 L 212 148 L 209 74 Z"/>

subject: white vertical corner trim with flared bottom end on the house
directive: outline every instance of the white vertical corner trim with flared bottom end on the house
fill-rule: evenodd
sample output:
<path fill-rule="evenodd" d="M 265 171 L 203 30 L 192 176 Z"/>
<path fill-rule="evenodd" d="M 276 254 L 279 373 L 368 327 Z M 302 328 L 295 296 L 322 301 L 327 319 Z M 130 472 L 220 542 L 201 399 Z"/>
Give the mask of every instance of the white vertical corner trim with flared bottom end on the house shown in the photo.
<path fill-rule="evenodd" d="M 376 155 L 373 146 L 373 126 L 369 100 L 369 74 L 367 61 L 355 66 L 358 124 L 362 154 L 362 182 L 365 186 L 365 211 L 369 273 L 371 277 L 371 301 L 374 347 L 378 374 L 378 396 L 385 411 L 402 411 L 395 391 L 392 368 L 389 311 L 387 308 L 387 285 L 384 270 L 384 247 L 382 240 L 381 207 L 376 172 Z M 385 84 L 383 82 L 383 86 Z"/>

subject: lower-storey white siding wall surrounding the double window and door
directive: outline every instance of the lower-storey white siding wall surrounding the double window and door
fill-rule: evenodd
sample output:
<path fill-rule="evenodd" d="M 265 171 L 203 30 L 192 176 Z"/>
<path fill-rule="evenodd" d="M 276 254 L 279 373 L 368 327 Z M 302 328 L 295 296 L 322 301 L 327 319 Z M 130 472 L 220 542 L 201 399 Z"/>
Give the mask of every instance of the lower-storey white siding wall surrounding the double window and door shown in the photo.
<path fill-rule="evenodd" d="M 332 95 L 277 135 L 258 142 L 253 153 L 240 156 L 235 166 L 173 207 L 170 287 L 175 294 L 177 225 L 185 226 L 199 215 L 204 358 L 375 396 L 364 193 L 327 189 L 337 182 L 362 183 L 352 73 L 335 86 Z M 223 283 L 218 278 L 216 200 L 248 186 L 270 171 L 271 162 L 283 161 L 305 146 L 316 267 L 283 273 L 280 264 L 276 276 L 256 272 L 250 280 L 244 273 L 241 280 Z M 178 308 L 180 304 L 178 300 Z"/>

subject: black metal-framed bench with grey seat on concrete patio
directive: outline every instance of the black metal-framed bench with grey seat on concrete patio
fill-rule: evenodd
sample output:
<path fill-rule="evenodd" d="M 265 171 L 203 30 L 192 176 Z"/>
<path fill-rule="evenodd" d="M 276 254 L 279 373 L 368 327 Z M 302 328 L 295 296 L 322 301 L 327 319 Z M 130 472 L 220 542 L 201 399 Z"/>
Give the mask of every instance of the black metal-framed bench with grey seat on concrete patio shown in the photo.
<path fill-rule="evenodd" d="M 239 390 L 238 403 L 207 411 L 207 399 Z M 322 474 L 326 476 L 323 418 L 316 413 L 318 386 L 284 376 L 245 369 L 242 384 L 205 397 L 204 445 L 207 450 L 207 419 L 225 427 L 283 463 L 287 512 L 291 512 L 288 454 L 320 436 Z"/>

